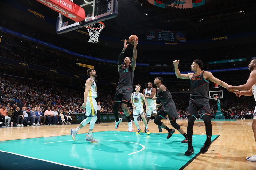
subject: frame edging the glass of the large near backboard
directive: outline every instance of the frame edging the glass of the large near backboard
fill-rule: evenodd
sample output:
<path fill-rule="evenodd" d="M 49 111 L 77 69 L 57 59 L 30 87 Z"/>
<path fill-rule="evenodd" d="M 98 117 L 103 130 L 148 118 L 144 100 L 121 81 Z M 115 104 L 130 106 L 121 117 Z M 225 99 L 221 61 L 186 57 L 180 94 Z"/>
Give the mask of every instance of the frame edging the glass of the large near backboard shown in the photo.
<path fill-rule="evenodd" d="M 75 2 L 74 2 L 75 3 Z M 64 18 L 62 14 L 59 13 L 59 16 L 57 17 L 57 23 L 56 23 L 56 33 L 57 34 L 62 34 L 62 33 L 67 33 L 69 31 L 77 30 L 79 28 L 84 28 L 86 26 L 89 26 L 91 24 L 94 24 L 96 22 L 102 22 L 111 18 L 115 18 L 118 14 L 118 0 L 111 0 L 111 10 L 109 12 L 106 12 L 104 14 L 100 14 L 97 16 L 95 15 L 95 0 L 92 0 L 86 4 L 80 5 L 81 7 L 84 7 L 86 5 L 93 5 L 93 11 L 92 11 L 92 16 L 89 16 L 85 18 L 84 21 L 82 22 L 75 22 L 73 24 L 67 25 L 67 26 L 62 26 L 64 23 Z M 107 8 L 107 6 L 106 6 Z M 87 12 L 85 11 L 86 16 L 88 15 Z"/>

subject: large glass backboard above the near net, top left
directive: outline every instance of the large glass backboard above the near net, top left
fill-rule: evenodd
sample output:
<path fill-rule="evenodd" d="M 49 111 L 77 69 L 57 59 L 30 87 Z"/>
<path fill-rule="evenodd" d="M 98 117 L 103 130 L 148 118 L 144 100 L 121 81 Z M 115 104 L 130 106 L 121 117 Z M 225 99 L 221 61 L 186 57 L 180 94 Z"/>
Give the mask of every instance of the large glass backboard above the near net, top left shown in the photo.
<path fill-rule="evenodd" d="M 115 18 L 118 13 L 118 0 L 71 0 L 84 8 L 86 18 L 82 22 L 75 22 L 59 13 L 56 33 L 62 34 L 72 30 L 89 26 L 93 23 Z"/>

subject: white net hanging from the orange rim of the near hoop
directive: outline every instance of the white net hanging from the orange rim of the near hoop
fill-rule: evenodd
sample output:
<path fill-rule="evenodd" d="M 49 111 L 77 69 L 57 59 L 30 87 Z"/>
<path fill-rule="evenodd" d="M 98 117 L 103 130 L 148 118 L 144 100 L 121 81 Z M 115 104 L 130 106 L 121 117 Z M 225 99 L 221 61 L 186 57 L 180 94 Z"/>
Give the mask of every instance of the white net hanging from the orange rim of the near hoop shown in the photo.
<path fill-rule="evenodd" d="M 88 42 L 96 43 L 99 42 L 98 37 L 100 35 L 101 30 L 105 27 L 105 24 L 103 22 L 98 22 L 89 26 L 86 26 L 90 39 Z"/>

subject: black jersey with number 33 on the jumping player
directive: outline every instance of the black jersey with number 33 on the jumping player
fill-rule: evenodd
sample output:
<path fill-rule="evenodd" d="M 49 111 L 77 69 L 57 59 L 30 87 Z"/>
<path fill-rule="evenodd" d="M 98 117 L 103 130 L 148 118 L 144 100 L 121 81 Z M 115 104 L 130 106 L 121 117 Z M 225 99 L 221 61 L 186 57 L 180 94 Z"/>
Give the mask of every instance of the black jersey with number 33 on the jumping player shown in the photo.
<path fill-rule="evenodd" d="M 119 73 L 118 85 L 133 84 L 134 71 L 132 70 L 132 65 L 128 65 L 128 66 L 122 65 L 118 73 Z"/>

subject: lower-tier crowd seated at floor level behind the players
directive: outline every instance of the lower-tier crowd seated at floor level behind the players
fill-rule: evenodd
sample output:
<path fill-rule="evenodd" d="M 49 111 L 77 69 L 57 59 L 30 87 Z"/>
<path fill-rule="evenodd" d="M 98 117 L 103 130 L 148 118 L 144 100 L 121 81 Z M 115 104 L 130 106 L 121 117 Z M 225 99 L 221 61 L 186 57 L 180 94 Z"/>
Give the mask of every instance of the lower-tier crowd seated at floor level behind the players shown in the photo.
<path fill-rule="evenodd" d="M 8 125 L 11 121 L 17 123 L 17 126 L 19 123 L 24 126 L 66 124 L 72 122 L 70 113 L 85 113 L 85 110 L 81 109 L 84 97 L 84 92 L 81 90 L 8 76 L 0 77 L 0 90 L 3 104 L 0 112 L 1 115 L 6 116 L 5 120 Z M 172 96 L 180 119 L 186 119 L 189 93 L 173 93 Z M 101 102 L 102 113 L 113 113 L 113 97 L 114 92 L 98 92 L 96 100 Z M 212 118 L 214 118 L 217 102 L 210 100 L 210 106 Z M 222 112 L 226 118 L 243 119 L 251 117 L 254 107 L 253 97 L 238 98 L 231 93 L 227 106 L 222 105 Z M 132 107 L 128 108 L 132 113 Z M 123 113 L 121 107 L 119 107 L 119 112 Z M 0 120 L 2 120 L 1 117 Z"/>

